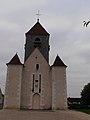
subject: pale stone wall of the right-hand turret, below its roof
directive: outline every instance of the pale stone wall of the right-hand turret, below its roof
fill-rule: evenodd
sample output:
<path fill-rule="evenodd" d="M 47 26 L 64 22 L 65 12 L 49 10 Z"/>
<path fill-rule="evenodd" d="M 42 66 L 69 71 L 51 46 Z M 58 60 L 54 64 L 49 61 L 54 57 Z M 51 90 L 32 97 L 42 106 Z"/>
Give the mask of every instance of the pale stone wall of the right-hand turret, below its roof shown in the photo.
<path fill-rule="evenodd" d="M 52 67 L 52 109 L 67 109 L 66 68 Z"/>

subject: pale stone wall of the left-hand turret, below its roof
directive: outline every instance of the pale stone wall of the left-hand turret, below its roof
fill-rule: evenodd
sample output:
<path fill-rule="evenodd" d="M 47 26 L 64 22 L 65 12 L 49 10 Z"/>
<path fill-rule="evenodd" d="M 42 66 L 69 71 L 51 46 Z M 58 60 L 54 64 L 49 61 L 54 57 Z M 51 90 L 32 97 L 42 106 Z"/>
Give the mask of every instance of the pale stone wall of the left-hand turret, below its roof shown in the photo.
<path fill-rule="evenodd" d="M 21 79 L 22 65 L 8 65 L 4 108 L 20 108 Z"/>

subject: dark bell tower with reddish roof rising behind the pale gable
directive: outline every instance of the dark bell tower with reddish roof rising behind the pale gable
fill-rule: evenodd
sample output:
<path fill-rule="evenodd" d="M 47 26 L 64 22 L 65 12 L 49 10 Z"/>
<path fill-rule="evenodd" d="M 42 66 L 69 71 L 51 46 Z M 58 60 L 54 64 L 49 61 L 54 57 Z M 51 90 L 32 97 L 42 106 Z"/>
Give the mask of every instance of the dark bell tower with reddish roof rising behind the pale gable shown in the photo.
<path fill-rule="evenodd" d="M 35 48 L 38 48 L 46 61 L 49 62 L 50 34 L 40 24 L 39 19 L 37 19 L 37 23 L 25 35 L 26 44 L 24 61 L 28 59 L 28 57 L 31 55 Z"/>

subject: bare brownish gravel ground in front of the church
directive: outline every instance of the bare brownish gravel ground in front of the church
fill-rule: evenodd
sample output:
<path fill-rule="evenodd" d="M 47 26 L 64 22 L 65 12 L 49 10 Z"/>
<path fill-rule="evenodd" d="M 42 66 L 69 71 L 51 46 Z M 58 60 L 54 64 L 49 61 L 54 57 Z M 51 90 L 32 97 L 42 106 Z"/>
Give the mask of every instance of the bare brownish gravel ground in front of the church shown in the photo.
<path fill-rule="evenodd" d="M 90 120 L 90 115 L 75 111 L 0 110 L 0 120 Z"/>

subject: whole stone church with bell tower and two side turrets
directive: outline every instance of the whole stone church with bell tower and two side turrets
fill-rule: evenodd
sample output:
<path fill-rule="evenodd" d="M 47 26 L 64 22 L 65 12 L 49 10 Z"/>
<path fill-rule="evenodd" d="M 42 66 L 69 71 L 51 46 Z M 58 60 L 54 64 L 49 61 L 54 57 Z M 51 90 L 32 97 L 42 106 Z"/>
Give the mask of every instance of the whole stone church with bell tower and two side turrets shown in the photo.
<path fill-rule="evenodd" d="M 49 65 L 50 34 L 38 20 L 25 35 L 24 64 L 17 54 L 7 63 L 4 108 L 67 109 L 67 66 L 58 55 Z"/>

